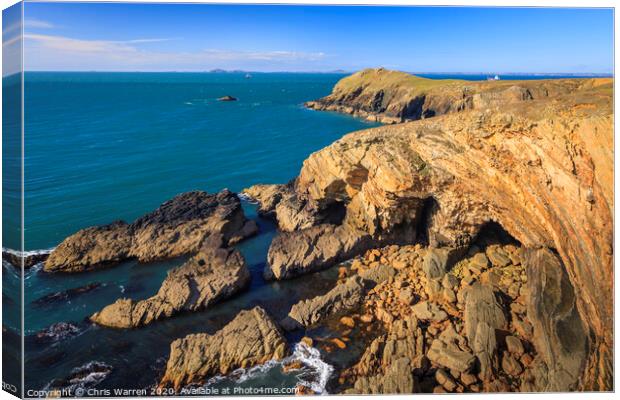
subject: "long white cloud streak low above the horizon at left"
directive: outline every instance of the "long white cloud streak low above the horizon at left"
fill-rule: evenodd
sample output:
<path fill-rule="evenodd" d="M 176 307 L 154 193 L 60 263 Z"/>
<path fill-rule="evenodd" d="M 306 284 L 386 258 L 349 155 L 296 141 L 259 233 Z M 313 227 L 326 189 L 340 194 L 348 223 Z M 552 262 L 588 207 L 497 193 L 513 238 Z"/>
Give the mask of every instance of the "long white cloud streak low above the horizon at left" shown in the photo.
<path fill-rule="evenodd" d="M 206 49 L 196 52 L 156 51 L 144 43 L 173 38 L 124 41 L 83 40 L 63 36 L 27 33 L 27 70 L 206 70 L 211 68 L 286 68 L 295 63 L 323 60 L 322 52 L 237 51 Z"/>

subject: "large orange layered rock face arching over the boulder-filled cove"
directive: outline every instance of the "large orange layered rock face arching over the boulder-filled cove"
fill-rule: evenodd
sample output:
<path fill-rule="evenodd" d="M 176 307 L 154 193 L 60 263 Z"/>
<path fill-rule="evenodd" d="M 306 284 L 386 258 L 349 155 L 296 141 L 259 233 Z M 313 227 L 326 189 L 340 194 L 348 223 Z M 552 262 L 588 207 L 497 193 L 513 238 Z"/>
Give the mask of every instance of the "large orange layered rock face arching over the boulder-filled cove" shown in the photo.
<path fill-rule="evenodd" d="M 471 107 L 354 132 L 312 154 L 296 194 L 316 204 L 343 204 L 338 229 L 373 236 L 415 224 L 431 246 L 462 247 L 494 221 L 525 247 L 553 249 L 591 332 L 581 388 L 609 390 L 613 81 L 492 84 L 470 85 L 478 94 Z M 351 82 L 347 88 L 357 90 Z M 360 109 L 355 96 L 347 103 L 346 95 L 335 95 L 339 107 Z"/>

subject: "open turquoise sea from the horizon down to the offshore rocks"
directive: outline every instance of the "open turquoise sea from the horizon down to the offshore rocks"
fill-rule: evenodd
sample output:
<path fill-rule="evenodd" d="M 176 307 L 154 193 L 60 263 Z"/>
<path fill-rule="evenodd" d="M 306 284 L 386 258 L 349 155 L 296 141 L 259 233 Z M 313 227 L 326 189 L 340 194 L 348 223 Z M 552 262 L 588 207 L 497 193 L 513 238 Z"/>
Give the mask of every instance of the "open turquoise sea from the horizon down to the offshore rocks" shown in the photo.
<path fill-rule="evenodd" d="M 313 151 L 372 126 L 302 107 L 342 76 L 26 73 L 25 248 L 181 192 L 287 182 Z"/>

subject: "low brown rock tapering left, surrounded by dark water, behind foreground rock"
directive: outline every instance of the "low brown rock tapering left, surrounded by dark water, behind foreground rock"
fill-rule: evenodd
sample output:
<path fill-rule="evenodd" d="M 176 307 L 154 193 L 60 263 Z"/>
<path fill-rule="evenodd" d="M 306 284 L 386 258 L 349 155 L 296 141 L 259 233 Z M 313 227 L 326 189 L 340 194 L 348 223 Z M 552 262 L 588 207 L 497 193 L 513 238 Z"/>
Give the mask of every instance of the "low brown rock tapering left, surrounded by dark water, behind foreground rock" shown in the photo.
<path fill-rule="evenodd" d="M 119 299 L 90 320 L 112 328 L 136 328 L 233 296 L 248 286 L 250 272 L 239 251 L 222 246 L 222 235 L 209 236 L 196 255 L 168 272 L 155 296 L 140 301 Z"/>

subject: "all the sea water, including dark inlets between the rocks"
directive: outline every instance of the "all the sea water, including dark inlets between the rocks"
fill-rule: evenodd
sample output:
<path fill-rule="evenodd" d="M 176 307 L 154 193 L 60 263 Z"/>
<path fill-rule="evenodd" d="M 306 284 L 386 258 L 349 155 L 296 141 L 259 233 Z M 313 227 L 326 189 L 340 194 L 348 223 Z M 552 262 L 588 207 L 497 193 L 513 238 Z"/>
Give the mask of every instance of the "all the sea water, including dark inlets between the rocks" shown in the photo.
<path fill-rule="evenodd" d="M 53 248 L 87 226 L 131 221 L 181 192 L 241 191 L 256 183 L 289 181 L 312 152 L 348 132 L 376 125 L 302 106 L 329 94 L 343 76 L 255 73 L 247 79 L 245 73 L 26 73 L 25 249 Z M 217 101 L 225 95 L 238 101 Z M 259 218 L 254 205 L 244 203 L 244 209 L 260 227 L 258 236 L 238 246 L 252 271 L 252 286 L 208 311 L 127 331 L 100 328 L 85 320 L 119 297 L 151 296 L 166 272 L 183 258 L 152 264 L 126 262 L 76 275 L 45 274 L 37 267 L 28 271 L 26 390 L 67 386 L 54 380 L 65 379 L 72 371 L 81 377 L 73 389 L 150 387 L 162 373 L 174 339 L 214 332 L 239 310 L 255 305 L 283 317 L 294 302 L 333 285 L 330 270 L 265 283 L 261 272 L 275 226 Z M 5 223 L 14 221 L 5 218 Z M 19 277 L 12 267 L 3 267 L 6 304 L 19 298 Z M 79 295 L 62 295 L 89 284 L 96 287 Z M 53 294 L 58 294 L 56 299 L 37 301 Z M 75 328 L 60 330 L 58 337 L 40 335 L 59 322 Z M 16 328 L 17 323 L 10 320 L 13 326 L 7 328 Z M 289 335 L 292 344 L 299 334 Z M 296 352 L 306 361 L 302 376 L 285 375 L 273 367 L 245 371 L 212 385 L 294 386 L 307 380 L 324 389 L 329 366 L 310 350 Z"/>

